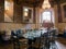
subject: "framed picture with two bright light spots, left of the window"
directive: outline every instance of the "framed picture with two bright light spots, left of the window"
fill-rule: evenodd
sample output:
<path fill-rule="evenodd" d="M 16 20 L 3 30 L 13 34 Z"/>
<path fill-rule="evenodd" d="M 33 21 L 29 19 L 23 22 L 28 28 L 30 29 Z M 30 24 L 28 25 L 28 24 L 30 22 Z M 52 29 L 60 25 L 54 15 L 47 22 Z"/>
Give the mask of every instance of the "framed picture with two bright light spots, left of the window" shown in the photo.
<path fill-rule="evenodd" d="M 23 23 L 33 23 L 33 9 L 23 7 Z"/>

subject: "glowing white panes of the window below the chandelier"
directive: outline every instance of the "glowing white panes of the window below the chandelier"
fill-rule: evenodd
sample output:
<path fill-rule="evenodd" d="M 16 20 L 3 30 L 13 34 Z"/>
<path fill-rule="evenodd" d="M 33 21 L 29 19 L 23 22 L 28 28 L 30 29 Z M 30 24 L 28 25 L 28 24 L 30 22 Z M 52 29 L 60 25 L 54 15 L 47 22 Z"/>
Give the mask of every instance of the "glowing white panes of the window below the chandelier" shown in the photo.
<path fill-rule="evenodd" d="M 42 23 L 43 23 L 43 21 L 52 22 L 52 12 L 51 11 L 43 12 L 41 21 L 42 21 Z"/>

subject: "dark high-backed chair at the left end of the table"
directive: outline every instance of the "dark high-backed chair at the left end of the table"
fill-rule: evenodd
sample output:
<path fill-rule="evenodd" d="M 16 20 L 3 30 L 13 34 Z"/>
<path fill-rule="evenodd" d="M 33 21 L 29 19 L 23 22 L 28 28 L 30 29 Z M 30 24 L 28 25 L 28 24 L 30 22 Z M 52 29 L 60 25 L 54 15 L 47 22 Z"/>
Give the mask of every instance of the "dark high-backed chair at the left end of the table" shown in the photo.
<path fill-rule="evenodd" d="M 19 38 L 18 35 L 14 33 L 14 30 L 11 32 L 11 39 L 13 44 L 13 49 L 20 49 Z"/>

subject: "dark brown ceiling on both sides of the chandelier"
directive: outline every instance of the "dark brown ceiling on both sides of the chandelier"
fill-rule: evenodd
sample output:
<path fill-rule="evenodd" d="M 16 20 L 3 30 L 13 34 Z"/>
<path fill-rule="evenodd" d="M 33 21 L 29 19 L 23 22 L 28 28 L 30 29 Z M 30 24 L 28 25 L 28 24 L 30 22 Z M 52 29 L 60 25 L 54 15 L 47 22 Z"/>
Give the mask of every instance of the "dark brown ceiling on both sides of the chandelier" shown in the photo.
<path fill-rule="evenodd" d="M 41 5 L 43 3 L 44 0 L 15 0 L 19 4 L 20 3 L 30 3 L 33 4 L 35 7 Z M 53 5 L 55 4 L 58 0 L 48 0 L 50 3 Z"/>

